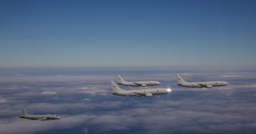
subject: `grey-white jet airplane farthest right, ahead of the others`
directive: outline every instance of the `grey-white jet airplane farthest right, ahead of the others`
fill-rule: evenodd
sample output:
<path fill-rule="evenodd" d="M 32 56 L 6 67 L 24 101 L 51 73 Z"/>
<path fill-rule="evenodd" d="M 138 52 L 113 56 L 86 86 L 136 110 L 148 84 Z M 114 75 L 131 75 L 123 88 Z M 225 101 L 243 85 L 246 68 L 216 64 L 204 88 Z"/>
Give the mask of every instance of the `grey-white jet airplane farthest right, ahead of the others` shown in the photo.
<path fill-rule="evenodd" d="M 186 87 L 206 87 L 212 88 L 213 86 L 227 86 L 229 83 L 224 81 L 211 81 L 211 82 L 186 82 L 179 74 L 176 74 L 178 86 Z"/>

